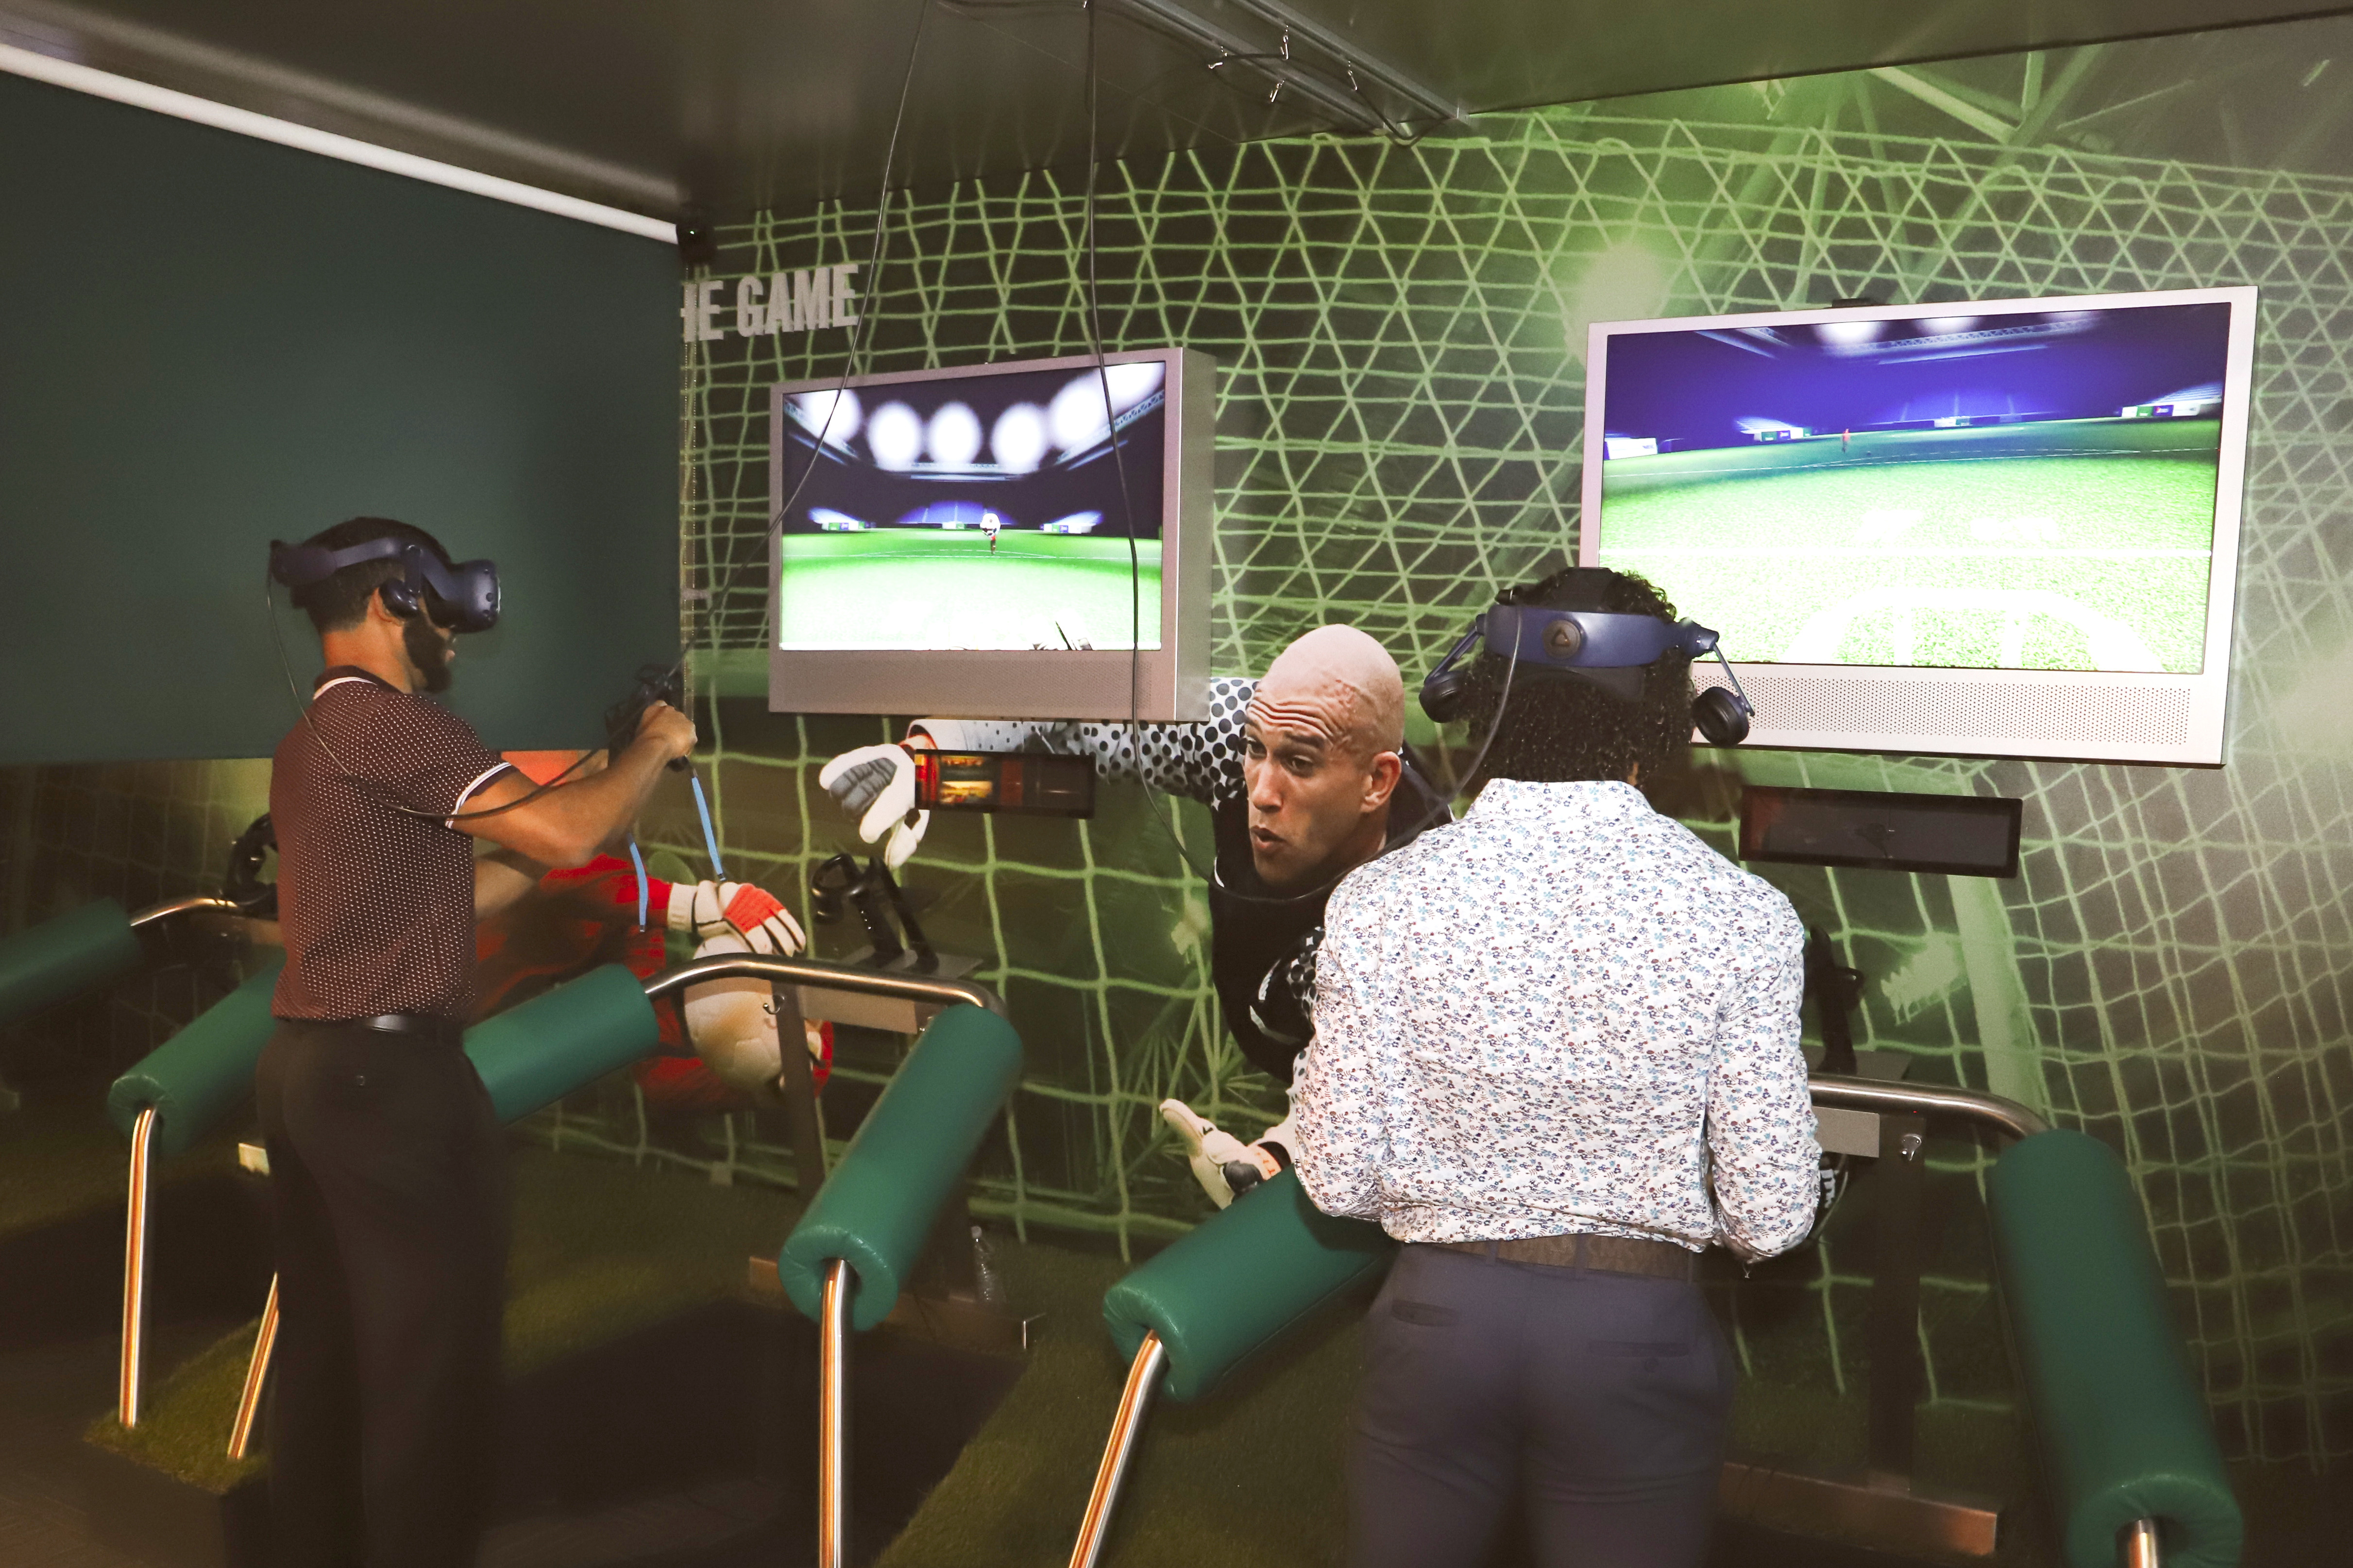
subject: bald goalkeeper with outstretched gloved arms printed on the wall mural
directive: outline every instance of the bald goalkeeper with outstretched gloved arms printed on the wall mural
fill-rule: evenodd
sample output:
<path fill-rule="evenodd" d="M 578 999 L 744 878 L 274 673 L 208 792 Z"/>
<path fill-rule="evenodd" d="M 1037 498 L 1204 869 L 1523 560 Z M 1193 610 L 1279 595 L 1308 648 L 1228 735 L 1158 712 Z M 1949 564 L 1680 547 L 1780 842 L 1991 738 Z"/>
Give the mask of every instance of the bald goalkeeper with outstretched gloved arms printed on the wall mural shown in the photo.
<path fill-rule="evenodd" d="M 1405 745 L 1398 661 L 1353 625 L 1308 632 L 1264 679 L 1209 682 L 1207 724 L 918 719 L 899 745 L 842 752 L 816 780 L 861 813 L 868 844 L 889 835 L 887 865 L 915 853 L 929 825 L 913 811 L 920 748 L 1092 755 L 1111 778 L 1207 804 L 1209 978 L 1242 1056 L 1285 1088 L 1315 1032 L 1325 898 L 1358 865 L 1447 820 L 1447 797 Z M 1219 1208 L 1292 1164 L 1289 1117 L 1252 1145 L 1184 1100 L 1162 1100 L 1160 1117 Z"/>

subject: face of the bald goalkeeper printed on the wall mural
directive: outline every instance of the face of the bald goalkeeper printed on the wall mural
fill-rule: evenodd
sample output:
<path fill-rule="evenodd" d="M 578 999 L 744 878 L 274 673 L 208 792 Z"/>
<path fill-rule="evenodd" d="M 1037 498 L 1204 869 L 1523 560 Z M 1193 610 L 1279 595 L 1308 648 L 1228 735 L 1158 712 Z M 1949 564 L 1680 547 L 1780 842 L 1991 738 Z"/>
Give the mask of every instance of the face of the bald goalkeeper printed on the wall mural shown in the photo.
<path fill-rule="evenodd" d="M 1308 889 L 1360 865 L 1388 842 L 1393 750 L 1360 738 L 1362 698 L 1332 679 L 1268 670 L 1242 715 L 1249 785 L 1249 865 L 1266 886 Z"/>

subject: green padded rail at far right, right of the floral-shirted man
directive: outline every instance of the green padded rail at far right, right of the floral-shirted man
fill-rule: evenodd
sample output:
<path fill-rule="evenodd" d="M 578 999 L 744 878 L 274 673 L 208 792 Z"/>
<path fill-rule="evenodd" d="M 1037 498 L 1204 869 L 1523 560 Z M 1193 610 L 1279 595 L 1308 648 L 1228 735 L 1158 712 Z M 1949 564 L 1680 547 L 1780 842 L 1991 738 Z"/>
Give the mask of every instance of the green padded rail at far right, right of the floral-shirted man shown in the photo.
<path fill-rule="evenodd" d="M 2122 1161 L 2026 1138 L 1986 1180 L 2002 1302 L 2068 1568 L 2113 1568 L 2158 1521 L 2167 1568 L 2233 1568 L 2240 1514 Z"/>

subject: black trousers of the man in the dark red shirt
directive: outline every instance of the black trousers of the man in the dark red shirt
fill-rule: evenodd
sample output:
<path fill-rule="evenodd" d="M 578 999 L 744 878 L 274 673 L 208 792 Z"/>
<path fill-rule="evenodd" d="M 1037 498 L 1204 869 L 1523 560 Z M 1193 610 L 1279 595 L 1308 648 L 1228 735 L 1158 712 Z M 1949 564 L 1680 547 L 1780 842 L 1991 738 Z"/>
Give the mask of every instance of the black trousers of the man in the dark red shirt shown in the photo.
<path fill-rule="evenodd" d="M 456 1034 L 280 1020 L 271 1514 L 285 1568 L 456 1568 L 482 1535 L 506 1140 Z"/>

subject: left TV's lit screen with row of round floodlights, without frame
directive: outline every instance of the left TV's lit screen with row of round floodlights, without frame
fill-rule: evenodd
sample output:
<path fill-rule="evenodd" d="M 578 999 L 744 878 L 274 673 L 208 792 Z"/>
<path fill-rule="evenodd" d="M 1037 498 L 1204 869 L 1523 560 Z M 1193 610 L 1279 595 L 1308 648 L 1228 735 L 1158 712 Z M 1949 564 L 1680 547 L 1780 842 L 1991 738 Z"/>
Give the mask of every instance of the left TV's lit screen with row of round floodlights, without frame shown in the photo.
<path fill-rule="evenodd" d="M 1165 378 L 1129 362 L 786 395 L 776 646 L 1158 649 Z"/>

